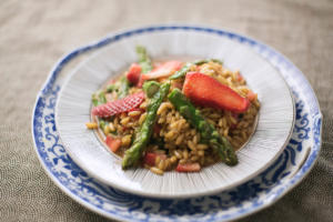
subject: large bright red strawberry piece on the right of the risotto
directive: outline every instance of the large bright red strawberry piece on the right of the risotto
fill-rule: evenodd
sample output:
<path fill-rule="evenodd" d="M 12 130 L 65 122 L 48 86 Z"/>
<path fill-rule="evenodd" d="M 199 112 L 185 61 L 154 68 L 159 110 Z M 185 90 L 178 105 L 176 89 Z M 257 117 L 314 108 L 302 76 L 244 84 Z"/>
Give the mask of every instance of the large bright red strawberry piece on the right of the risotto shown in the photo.
<path fill-rule="evenodd" d="M 244 112 L 250 102 L 214 78 L 200 72 L 189 72 L 183 84 L 184 94 L 195 104 Z"/>

